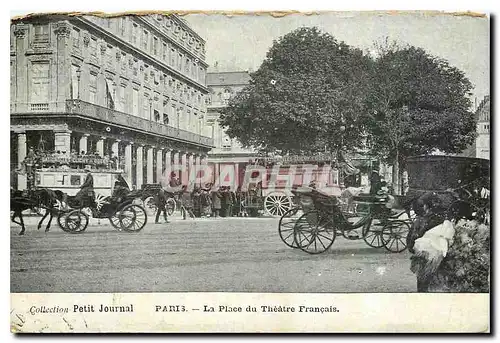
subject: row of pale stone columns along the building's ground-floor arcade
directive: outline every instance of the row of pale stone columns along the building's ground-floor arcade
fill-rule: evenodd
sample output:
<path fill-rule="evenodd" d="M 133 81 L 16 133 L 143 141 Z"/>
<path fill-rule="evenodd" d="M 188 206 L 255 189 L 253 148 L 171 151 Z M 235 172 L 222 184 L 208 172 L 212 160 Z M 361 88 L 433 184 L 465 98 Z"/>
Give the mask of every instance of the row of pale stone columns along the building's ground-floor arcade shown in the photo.
<path fill-rule="evenodd" d="M 83 134 L 78 142 L 79 153 L 86 153 L 88 146 L 88 139 L 90 134 Z M 54 132 L 54 146 L 55 150 L 65 151 L 67 155 L 70 153 L 70 141 L 71 141 L 71 131 L 64 132 Z M 106 137 L 100 137 L 96 141 L 96 150 L 100 156 L 104 156 L 104 146 Z M 17 133 L 17 164 L 18 167 L 22 167 L 22 163 L 27 155 L 27 137 L 25 132 Z M 119 144 L 120 140 L 114 139 L 111 143 L 111 151 L 114 156 L 118 157 L 119 160 L 124 163 L 124 177 L 132 185 L 133 181 L 133 142 L 125 142 L 124 144 L 124 156 L 120 156 Z M 156 150 L 156 170 L 154 170 L 154 159 Z M 144 146 L 142 144 L 136 145 L 136 168 L 135 168 L 135 179 L 136 187 L 140 189 L 144 181 L 144 165 L 143 158 L 146 155 L 146 182 L 154 182 L 154 174 L 156 173 L 156 182 L 159 183 L 163 179 L 164 170 L 171 170 L 173 165 L 184 165 L 187 166 L 187 171 L 180 173 L 179 171 L 174 171 L 178 174 L 180 180 L 183 184 L 187 184 L 189 179 L 189 173 L 192 172 L 196 166 L 200 164 L 207 164 L 206 156 L 195 155 L 184 151 L 173 150 L 170 148 L 157 148 L 154 146 Z M 165 161 L 165 163 L 164 163 Z M 165 169 L 163 168 L 165 166 Z M 169 175 L 167 175 L 168 177 Z M 167 181 L 167 180 L 166 180 Z M 26 177 L 24 175 L 18 176 L 18 188 L 26 188 Z"/>

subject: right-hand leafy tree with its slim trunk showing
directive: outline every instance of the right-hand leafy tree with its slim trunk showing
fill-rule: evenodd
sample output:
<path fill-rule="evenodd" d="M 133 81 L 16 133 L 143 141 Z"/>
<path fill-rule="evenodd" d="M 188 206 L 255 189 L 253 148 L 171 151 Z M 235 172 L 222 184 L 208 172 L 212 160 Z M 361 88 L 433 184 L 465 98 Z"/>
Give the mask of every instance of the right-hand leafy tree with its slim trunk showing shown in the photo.
<path fill-rule="evenodd" d="M 413 46 L 378 46 L 372 65 L 367 112 L 372 154 L 393 165 L 400 191 L 406 157 L 463 151 L 475 138 L 469 111 L 472 84 L 443 59 Z"/>

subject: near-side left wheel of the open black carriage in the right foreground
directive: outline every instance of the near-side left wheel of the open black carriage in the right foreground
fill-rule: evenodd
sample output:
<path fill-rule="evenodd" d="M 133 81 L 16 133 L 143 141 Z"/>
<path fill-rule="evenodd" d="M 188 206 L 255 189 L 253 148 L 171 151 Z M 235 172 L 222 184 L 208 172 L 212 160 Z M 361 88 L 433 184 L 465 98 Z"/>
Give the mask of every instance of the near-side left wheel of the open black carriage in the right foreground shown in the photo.
<path fill-rule="evenodd" d="M 332 246 L 335 237 L 333 220 L 317 210 L 304 213 L 294 226 L 294 243 L 308 254 L 325 252 Z"/>

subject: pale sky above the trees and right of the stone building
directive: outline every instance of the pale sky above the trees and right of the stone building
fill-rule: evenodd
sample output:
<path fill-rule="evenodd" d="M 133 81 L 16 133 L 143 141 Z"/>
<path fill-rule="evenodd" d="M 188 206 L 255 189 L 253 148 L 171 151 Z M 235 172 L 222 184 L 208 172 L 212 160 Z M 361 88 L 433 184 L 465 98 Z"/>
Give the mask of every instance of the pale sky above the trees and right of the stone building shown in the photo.
<path fill-rule="evenodd" d="M 324 12 L 269 15 L 190 14 L 190 26 L 206 40 L 206 62 L 219 71 L 256 70 L 273 40 L 299 27 L 316 26 L 368 51 L 385 37 L 421 47 L 462 70 L 474 85 L 473 99 L 490 92 L 489 21 L 429 13 Z M 213 69 L 213 68 L 212 68 Z"/>

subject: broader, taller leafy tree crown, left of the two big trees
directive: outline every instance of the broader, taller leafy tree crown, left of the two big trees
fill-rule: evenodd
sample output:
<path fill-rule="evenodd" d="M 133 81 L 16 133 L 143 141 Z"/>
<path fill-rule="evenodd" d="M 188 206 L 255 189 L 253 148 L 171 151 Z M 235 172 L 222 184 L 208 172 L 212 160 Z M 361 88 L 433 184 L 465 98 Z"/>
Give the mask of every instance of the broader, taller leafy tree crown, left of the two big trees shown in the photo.
<path fill-rule="evenodd" d="M 244 146 L 282 154 L 361 143 L 370 58 L 317 28 L 275 41 L 249 85 L 222 111 Z M 345 129 L 345 132 L 343 132 Z"/>

